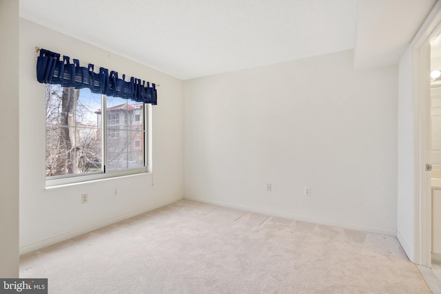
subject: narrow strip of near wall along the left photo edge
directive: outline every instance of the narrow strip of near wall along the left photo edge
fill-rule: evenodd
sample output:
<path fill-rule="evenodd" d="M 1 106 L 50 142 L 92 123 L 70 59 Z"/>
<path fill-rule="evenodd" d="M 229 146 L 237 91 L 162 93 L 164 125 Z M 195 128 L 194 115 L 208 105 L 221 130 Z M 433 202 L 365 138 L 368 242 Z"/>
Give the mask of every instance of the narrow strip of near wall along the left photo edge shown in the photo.
<path fill-rule="evenodd" d="M 19 277 L 19 1 L 0 0 L 0 28 L 0 277 L 6 278 Z"/>

